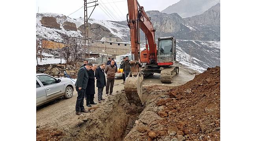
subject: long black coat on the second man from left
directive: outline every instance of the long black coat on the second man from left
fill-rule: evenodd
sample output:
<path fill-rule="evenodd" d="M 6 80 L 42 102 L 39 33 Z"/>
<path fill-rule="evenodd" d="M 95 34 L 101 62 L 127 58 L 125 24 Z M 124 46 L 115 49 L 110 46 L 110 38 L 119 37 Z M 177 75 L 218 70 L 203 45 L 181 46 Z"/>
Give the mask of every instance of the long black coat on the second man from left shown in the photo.
<path fill-rule="evenodd" d="M 94 95 L 95 94 L 95 77 L 94 77 L 94 71 L 93 70 L 89 70 L 88 72 L 88 76 L 89 76 L 89 80 L 87 83 L 87 87 L 85 90 L 85 94 L 89 94 L 89 95 Z"/>

